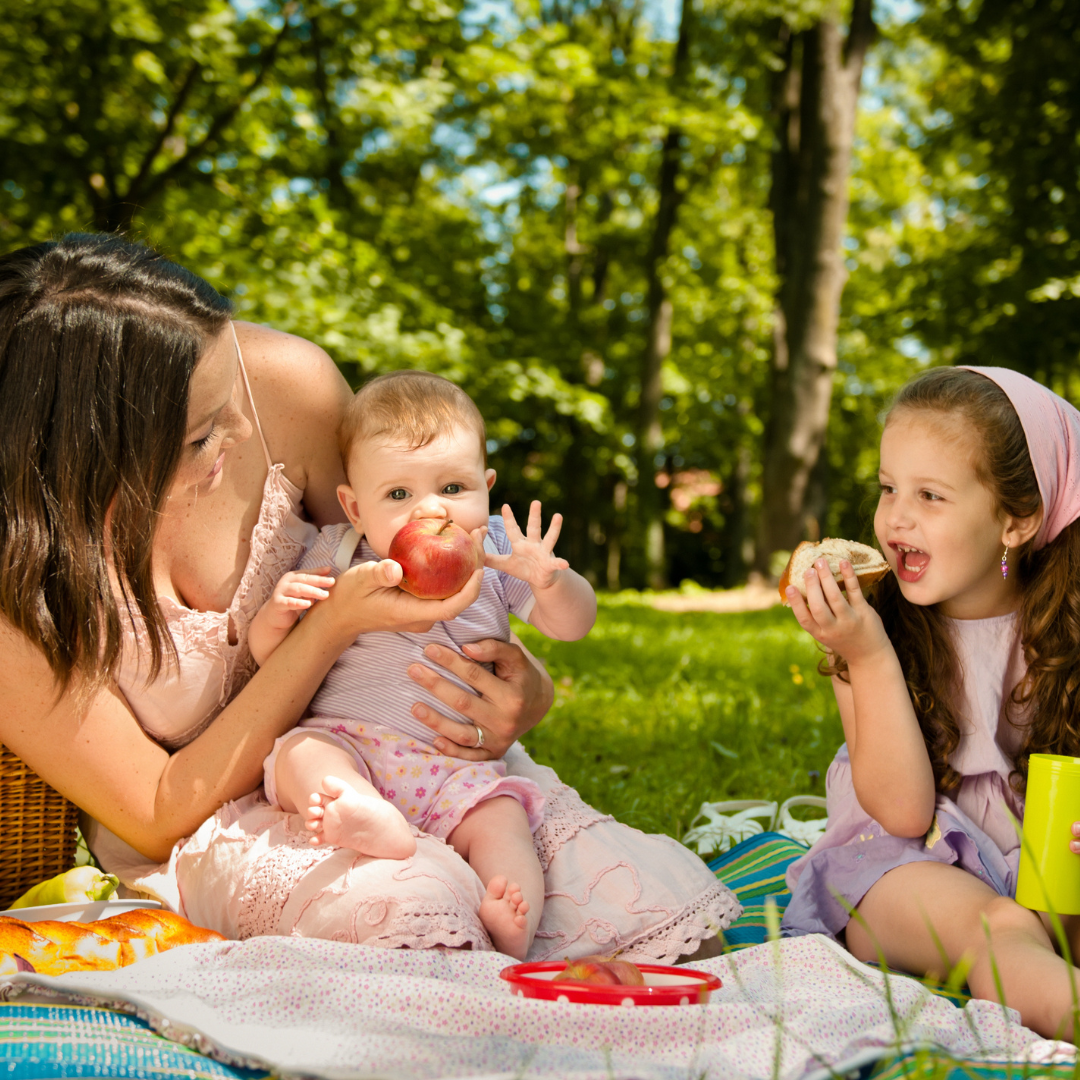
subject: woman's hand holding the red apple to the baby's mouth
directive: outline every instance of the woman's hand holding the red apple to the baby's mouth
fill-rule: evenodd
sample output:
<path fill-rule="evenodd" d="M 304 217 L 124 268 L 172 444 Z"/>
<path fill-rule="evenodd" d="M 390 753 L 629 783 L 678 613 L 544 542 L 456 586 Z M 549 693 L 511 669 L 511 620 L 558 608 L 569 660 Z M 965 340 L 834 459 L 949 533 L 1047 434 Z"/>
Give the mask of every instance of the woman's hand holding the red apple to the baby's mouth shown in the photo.
<path fill-rule="evenodd" d="M 330 621 L 333 631 L 350 642 L 374 630 L 423 634 L 436 622 L 456 619 L 475 603 L 484 571 L 477 569 L 459 593 L 445 600 L 421 600 L 399 589 L 401 580 L 402 568 L 391 558 L 350 567 L 309 618 L 320 612 Z"/>

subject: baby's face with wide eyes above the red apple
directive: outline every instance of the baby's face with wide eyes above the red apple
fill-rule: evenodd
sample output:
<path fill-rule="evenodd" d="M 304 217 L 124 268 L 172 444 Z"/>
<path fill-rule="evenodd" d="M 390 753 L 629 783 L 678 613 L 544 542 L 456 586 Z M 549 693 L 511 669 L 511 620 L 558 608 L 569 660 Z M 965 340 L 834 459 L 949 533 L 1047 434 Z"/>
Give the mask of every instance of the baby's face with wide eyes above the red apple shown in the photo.
<path fill-rule="evenodd" d="M 480 435 L 455 427 L 416 449 L 381 438 L 357 442 L 338 488 L 349 521 L 379 558 L 417 517 L 444 517 L 472 531 L 487 525 L 487 492 L 495 470 L 484 468 Z"/>

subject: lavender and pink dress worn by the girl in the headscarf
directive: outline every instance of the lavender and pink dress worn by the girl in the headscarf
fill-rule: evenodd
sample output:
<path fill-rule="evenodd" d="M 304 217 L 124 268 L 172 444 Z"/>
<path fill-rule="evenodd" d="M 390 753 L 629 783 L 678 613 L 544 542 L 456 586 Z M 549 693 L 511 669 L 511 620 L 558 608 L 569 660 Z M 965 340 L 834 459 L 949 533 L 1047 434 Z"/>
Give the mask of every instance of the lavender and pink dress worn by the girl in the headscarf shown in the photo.
<path fill-rule="evenodd" d="M 837 752 L 826 778 L 828 827 L 787 870 L 794 893 L 784 913 L 785 936 L 836 936 L 883 874 L 915 862 L 962 866 L 1003 896 L 1016 891 L 1020 839 L 1013 825 L 1024 800 L 1009 786 L 1011 756 L 1022 731 L 1005 716 L 1013 688 L 1024 675 L 1015 615 L 950 620 L 961 671 L 960 744 L 949 764 L 962 777 L 954 798 L 937 796 L 926 837 L 890 836 L 859 805 L 848 747 Z"/>

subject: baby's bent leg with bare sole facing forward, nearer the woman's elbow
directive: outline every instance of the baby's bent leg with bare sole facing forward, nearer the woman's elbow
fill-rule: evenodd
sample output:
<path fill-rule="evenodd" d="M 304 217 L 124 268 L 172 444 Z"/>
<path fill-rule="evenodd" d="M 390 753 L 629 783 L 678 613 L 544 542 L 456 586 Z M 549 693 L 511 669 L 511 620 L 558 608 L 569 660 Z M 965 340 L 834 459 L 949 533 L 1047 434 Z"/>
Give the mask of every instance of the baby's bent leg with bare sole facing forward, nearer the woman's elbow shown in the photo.
<path fill-rule="evenodd" d="M 345 747 L 318 731 L 289 739 L 274 765 L 278 800 L 302 813 L 313 845 L 351 848 L 375 859 L 408 859 L 416 838 L 396 807 L 356 769 Z"/>

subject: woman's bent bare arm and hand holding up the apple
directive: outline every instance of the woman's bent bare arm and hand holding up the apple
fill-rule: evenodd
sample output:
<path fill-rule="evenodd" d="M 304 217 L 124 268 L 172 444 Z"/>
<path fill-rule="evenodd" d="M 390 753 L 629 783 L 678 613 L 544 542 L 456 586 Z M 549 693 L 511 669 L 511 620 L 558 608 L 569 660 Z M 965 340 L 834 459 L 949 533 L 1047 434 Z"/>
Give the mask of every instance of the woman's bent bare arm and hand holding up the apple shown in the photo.
<path fill-rule="evenodd" d="M 75 688 L 58 694 L 42 654 L 0 623 L 0 742 L 132 847 L 163 861 L 220 806 L 258 785 L 274 739 L 302 716 L 357 634 L 453 619 L 476 599 L 483 573 L 449 600 L 409 596 L 395 588 L 400 578 L 389 561 L 341 575 L 217 719 L 172 755 L 144 733 L 117 687 L 89 701 Z"/>

